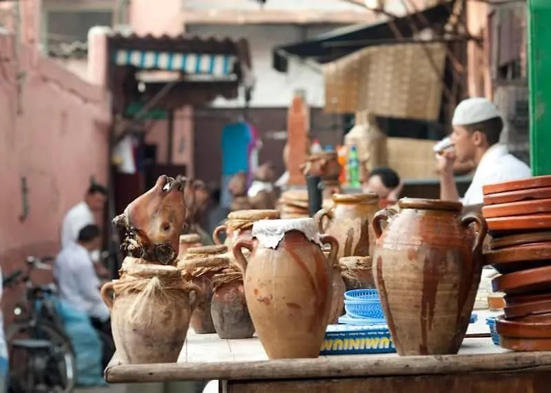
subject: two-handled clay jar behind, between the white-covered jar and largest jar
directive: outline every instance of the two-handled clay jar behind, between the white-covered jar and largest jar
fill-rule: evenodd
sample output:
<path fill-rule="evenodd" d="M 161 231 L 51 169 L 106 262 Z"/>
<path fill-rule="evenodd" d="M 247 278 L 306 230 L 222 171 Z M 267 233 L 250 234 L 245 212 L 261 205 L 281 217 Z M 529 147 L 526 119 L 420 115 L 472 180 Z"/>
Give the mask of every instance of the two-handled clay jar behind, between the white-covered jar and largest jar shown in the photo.
<path fill-rule="evenodd" d="M 318 211 L 314 220 L 320 233 L 337 238 L 339 258 L 366 257 L 375 247 L 371 220 L 379 209 L 379 197 L 375 193 L 335 194 L 333 208 Z"/>

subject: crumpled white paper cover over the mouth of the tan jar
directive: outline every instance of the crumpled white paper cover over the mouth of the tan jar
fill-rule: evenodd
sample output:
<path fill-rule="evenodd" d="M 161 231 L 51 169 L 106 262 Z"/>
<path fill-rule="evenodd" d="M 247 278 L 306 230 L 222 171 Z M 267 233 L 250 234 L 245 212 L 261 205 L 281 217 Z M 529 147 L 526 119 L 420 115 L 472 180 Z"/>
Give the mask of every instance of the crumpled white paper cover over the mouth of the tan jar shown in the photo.
<path fill-rule="evenodd" d="M 253 224 L 252 236 L 266 248 L 276 248 L 289 231 L 300 231 L 306 239 L 322 247 L 318 226 L 311 217 L 289 218 L 284 220 L 260 220 Z"/>

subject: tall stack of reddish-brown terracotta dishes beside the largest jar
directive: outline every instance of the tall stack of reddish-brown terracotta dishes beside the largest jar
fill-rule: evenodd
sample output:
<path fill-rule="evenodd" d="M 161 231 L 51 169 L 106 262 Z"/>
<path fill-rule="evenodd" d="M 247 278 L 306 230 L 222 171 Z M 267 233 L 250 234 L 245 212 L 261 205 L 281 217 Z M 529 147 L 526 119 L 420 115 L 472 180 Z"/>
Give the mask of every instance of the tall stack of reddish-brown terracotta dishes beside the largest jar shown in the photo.
<path fill-rule="evenodd" d="M 551 176 L 483 187 L 482 213 L 492 239 L 486 263 L 506 293 L 496 321 L 503 348 L 551 350 Z"/>

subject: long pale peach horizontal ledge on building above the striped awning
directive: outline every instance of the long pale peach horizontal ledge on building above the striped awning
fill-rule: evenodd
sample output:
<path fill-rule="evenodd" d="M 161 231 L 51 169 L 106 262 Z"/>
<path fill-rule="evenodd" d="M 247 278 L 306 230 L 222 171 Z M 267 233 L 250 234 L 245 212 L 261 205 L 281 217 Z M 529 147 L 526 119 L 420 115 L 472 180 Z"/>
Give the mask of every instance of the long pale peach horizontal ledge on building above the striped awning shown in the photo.
<path fill-rule="evenodd" d="M 318 24 L 318 23 L 373 23 L 378 20 L 375 12 L 365 10 L 197 10 L 185 8 L 182 21 L 185 24 Z"/>

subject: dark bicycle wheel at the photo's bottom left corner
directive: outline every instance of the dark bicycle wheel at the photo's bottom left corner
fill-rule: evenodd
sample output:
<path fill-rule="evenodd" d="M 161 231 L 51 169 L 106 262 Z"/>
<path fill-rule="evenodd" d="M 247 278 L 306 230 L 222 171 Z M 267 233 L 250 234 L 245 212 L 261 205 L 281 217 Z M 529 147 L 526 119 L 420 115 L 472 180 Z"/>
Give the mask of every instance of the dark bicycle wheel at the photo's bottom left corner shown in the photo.
<path fill-rule="evenodd" d="M 72 392 L 76 383 L 76 361 L 70 341 L 67 340 L 63 332 L 59 332 L 52 326 L 47 324 L 31 326 L 29 323 L 12 325 L 6 332 L 10 354 L 10 385 L 13 386 L 13 389 L 21 392 L 36 390 L 34 386 L 25 386 L 25 383 L 34 379 L 29 379 L 28 370 L 25 368 L 21 370 L 21 364 L 17 357 L 17 354 L 32 357 L 32 352 L 10 345 L 10 342 L 19 338 L 42 339 L 52 343 L 52 347 L 48 350 L 46 369 L 43 372 L 43 383 L 47 385 L 46 388 L 49 392 Z M 28 359 L 23 357 L 23 363 L 28 363 Z"/>

